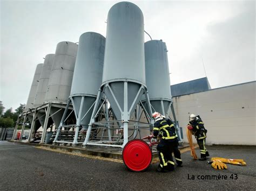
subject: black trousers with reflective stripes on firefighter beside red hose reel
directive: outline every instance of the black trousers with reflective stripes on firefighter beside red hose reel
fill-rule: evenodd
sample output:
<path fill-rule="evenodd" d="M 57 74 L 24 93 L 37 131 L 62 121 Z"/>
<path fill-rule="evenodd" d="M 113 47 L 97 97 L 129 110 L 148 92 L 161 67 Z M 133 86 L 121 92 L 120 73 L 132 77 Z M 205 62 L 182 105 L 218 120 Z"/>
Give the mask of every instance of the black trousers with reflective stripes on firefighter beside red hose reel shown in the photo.
<path fill-rule="evenodd" d="M 160 143 L 157 145 L 160 167 L 163 169 L 174 169 L 172 159 L 174 144 L 174 142 L 170 142 L 169 140 L 161 139 Z"/>

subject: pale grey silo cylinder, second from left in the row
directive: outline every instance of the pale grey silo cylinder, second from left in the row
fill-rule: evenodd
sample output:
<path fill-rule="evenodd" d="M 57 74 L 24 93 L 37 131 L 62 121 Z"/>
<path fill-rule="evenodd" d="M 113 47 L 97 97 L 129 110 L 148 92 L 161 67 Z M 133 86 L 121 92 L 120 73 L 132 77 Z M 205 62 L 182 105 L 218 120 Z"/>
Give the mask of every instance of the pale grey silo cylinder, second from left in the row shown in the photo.
<path fill-rule="evenodd" d="M 44 103 L 54 57 L 55 57 L 55 54 L 47 54 L 45 56 L 42 73 L 40 75 L 37 90 L 36 90 L 36 96 L 34 101 L 35 107 L 38 107 L 39 105 L 42 105 Z"/>

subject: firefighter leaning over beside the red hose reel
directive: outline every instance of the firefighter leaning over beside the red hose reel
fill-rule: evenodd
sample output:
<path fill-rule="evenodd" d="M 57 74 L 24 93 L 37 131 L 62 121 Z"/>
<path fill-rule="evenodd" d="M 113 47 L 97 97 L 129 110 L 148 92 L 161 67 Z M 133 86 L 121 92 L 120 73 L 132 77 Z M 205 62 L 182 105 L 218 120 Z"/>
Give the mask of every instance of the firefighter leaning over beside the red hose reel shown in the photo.
<path fill-rule="evenodd" d="M 174 129 L 174 125 L 170 119 L 164 118 L 158 112 L 153 113 L 154 118 L 154 128 L 153 128 L 153 136 L 160 137 L 160 143 L 157 145 L 158 157 L 160 160 L 160 164 L 157 168 L 158 172 L 168 172 L 174 171 L 174 161 L 172 159 L 172 152 L 174 151 L 174 147 L 177 145 L 177 135 Z M 170 125 L 169 125 L 170 124 Z M 179 155 L 177 153 L 177 158 L 180 160 L 179 164 L 182 164 Z"/>

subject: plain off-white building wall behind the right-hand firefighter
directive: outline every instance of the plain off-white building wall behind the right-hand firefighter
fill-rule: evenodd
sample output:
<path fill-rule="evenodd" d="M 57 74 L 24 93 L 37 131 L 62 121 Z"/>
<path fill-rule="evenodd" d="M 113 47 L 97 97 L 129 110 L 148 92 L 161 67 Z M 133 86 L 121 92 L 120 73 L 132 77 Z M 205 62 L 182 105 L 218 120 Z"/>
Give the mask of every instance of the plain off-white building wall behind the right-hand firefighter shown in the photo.
<path fill-rule="evenodd" d="M 206 144 L 256 145 L 255 87 L 254 81 L 173 97 L 184 142 L 188 116 L 199 114 L 208 131 Z"/>

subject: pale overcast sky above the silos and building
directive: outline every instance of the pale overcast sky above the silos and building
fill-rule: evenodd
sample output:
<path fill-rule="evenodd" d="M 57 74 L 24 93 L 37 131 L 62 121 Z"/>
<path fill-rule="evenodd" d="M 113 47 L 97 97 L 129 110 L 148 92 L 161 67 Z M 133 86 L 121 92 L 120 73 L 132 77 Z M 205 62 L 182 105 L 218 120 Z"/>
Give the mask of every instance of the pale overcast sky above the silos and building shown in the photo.
<path fill-rule="evenodd" d="M 106 36 L 107 12 L 120 2 L 0 1 L 0 101 L 13 109 L 28 100 L 45 55 L 84 32 Z M 212 88 L 255 80 L 254 1 L 130 2 L 142 10 L 145 31 L 165 41 L 171 84 L 205 76 Z"/>

